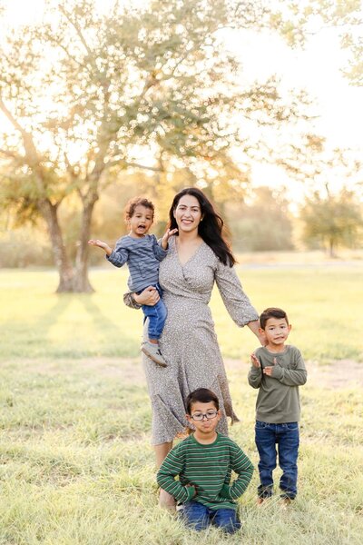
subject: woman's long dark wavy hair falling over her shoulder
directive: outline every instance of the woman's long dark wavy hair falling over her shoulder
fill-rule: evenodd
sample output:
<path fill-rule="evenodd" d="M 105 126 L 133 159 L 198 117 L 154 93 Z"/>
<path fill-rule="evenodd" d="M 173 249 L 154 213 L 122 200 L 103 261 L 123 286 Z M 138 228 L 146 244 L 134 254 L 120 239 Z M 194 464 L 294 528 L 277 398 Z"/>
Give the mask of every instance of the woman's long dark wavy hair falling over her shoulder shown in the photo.
<path fill-rule="evenodd" d="M 169 211 L 169 229 L 178 227 L 174 218 L 174 211 L 179 204 L 179 201 L 184 195 L 191 195 L 198 200 L 201 206 L 201 216 L 203 220 L 198 225 L 198 233 L 203 241 L 208 244 L 211 250 L 216 254 L 221 263 L 230 267 L 236 263 L 236 260 L 231 253 L 229 244 L 224 239 L 224 222 L 221 216 L 216 213 L 214 207 L 206 197 L 206 195 L 197 187 L 186 187 L 177 193 L 172 201 L 172 208 Z"/>

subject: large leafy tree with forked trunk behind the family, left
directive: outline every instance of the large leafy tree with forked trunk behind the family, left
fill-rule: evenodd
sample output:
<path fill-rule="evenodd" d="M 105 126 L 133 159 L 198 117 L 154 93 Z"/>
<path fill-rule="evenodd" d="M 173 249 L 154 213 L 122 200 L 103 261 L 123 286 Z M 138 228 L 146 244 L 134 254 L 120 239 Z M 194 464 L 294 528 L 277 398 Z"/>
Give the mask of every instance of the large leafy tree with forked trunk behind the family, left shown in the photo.
<path fill-rule="evenodd" d="M 0 58 L 0 110 L 10 127 L 0 141 L 1 197 L 19 221 L 46 223 L 58 292 L 92 291 L 93 209 L 116 174 L 165 176 L 168 165 L 207 189 L 221 181 L 243 188 L 249 154 L 269 155 L 253 127 L 306 118 L 306 101 L 291 94 L 286 102 L 274 79 L 237 85 L 238 64 L 223 50 L 223 29 L 270 25 L 269 3 L 169 0 L 137 10 L 115 2 L 107 13 L 93 0 L 52 5 L 41 24 L 9 33 Z M 240 136 L 240 124 L 250 124 L 253 139 Z M 233 146 L 246 158 L 240 165 Z M 59 221 L 73 194 L 82 211 L 75 263 Z"/>

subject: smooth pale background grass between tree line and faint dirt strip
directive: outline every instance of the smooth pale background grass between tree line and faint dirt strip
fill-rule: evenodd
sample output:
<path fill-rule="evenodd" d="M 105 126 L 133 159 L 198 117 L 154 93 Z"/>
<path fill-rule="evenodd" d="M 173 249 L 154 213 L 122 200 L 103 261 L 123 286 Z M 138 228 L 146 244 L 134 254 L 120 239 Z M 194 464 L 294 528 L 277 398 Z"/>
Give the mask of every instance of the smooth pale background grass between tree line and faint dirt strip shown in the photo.
<path fill-rule="evenodd" d="M 319 362 L 363 361 L 361 342 L 363 266 L 241 268 L 241 281 L 261 312 L 280 306 L 289 313 L 290 342 Z M 0 271 L 2 355 L 8 358 L 137 357 L 142 312 L 123 304 L 126 271 L 94 270 L 96 292 L 56 294 L 53 271 Z M 218 292 L 211 312 L 225 357 L 248 359 L 256 340 L 239 330 Z"/>

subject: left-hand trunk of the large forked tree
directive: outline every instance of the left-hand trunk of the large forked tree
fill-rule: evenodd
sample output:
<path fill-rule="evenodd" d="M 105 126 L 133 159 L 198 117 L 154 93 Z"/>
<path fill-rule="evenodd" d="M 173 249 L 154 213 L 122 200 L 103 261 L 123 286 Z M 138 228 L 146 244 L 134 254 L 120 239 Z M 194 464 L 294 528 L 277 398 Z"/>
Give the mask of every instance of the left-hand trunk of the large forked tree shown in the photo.
<path fill-rule="evenodd" d="M 44 200 L 40 203 L 39 208 L 48 226 L 54 263 L 59 272 L 59 284 L 56 291 L 58 293 L 73 292 L 74 270 L 65 251 L 62 231 L 58 222 L 58 207 L 50 201 Z"/>

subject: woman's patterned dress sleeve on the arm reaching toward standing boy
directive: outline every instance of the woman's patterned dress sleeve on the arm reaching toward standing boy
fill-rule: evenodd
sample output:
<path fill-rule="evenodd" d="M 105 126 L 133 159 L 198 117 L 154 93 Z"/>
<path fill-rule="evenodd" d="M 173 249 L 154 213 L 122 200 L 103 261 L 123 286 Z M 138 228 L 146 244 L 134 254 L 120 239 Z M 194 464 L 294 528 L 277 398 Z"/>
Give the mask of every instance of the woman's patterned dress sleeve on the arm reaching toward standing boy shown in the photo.
<path fill-rule="evenodd" d="M 214 274 L 221 298 L 233 322 L 243 327 L 246 323 L 259 320 L 259 314 L 251 305 L 246 293 L 243 292 L 235 268 L 224 265 L 218 260 Z"/>

